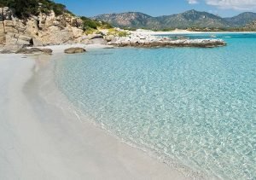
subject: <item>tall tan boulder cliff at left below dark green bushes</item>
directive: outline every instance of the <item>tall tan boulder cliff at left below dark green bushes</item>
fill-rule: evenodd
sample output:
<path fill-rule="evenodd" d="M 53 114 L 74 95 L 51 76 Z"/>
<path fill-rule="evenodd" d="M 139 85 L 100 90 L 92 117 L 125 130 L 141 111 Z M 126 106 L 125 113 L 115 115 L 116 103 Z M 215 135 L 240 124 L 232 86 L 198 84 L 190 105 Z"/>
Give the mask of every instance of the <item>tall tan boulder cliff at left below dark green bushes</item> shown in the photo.
<path fill-rule="evenodd" d="M 26 46 L 79 43 L 84 34 L 82 24 L 78 17 L 56 16 L 53 11 L 20 20 L 12 9 L 0 8 L 0 44 L 13 52 Z"/>

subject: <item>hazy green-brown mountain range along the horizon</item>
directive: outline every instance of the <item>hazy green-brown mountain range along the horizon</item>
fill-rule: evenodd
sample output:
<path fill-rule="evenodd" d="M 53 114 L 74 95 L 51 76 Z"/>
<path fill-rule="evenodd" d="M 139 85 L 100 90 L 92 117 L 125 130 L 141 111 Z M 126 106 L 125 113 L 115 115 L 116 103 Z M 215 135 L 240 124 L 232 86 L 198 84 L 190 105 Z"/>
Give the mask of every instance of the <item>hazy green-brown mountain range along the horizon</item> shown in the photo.
<path fill-rule="evenodd" d="M 107 21 L 113 26 L 148 29 L 215 27 L 243 27 L 256 20 L 256 13 L 246 12 L 230 18 L 222 18 L 207 12 L 189 10 L 176 15 L 152 17 L 139 12 L 96 15 L 92 19 Z"/>

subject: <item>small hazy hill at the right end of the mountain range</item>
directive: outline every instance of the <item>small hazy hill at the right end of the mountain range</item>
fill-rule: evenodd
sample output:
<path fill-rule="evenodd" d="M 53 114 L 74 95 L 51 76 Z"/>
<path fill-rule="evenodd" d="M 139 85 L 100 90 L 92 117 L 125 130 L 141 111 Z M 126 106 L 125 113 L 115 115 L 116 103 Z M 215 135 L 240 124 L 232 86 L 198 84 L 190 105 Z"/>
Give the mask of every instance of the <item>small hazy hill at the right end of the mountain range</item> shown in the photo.
<path fill-rule="evenodd" d="M 224 18 L 231 26 L 246 26 L 248 23 L 256 20 L 256 13 L 241 13 L 231 18 Z"/>

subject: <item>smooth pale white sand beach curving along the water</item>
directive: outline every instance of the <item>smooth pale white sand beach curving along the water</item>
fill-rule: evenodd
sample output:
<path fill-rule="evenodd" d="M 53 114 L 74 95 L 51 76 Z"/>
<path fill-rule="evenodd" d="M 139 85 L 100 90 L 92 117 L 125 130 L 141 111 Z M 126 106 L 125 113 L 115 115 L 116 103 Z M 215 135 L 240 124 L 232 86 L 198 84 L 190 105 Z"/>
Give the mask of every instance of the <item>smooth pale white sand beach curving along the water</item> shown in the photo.
<path fill-rule="evenodd" d="M 35 62 L 21 56 L 0 55 L 0 179 L 186 179 L 95 125 L 66 115 L 60 104 L 44 101 L 41 82 L 32 76 Z"/>

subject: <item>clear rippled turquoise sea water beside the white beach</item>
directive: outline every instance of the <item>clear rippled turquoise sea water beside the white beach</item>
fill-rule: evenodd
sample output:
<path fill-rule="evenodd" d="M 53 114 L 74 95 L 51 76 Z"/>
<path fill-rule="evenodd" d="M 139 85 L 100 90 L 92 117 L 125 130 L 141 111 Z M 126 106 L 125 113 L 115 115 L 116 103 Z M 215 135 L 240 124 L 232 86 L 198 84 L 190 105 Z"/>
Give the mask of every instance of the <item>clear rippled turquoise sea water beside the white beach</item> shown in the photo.
<path fill-rule="evenodd" d="M 127 142 L 210 177 L 256 179 L 256 34 L 217 36 L 228 46 L 67 55 L 55 81 Z"/>

